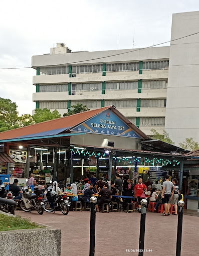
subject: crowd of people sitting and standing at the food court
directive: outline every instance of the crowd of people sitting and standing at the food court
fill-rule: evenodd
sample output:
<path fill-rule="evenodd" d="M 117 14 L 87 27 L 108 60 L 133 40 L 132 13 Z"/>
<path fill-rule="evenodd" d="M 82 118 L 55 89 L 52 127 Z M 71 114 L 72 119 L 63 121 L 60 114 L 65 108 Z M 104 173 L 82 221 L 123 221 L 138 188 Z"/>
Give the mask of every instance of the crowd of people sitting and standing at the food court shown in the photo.
<path fill-rule="evenodd" d="M 14 180 L 14 183 L 10 185 L 10 191 L 13 192 L 13 195 L 16 199 L 21 199 L 22 193 L 21 189 L 18 187 L 18 179 Z M 27 185 L 32 191 L 34 187 L 38 185 L 38 179 L 34 178 L 34 174 L 30 175 L 30 178 L 27 182 Z M 110 189 L 109 189 L 110 188 Z M 92 195 L 98 195 L 97 200 L 97 211 L 99 211 L 99 206 L 103 203 L 110 203 L 115 201 L 116 198 L 112 196 L 127 196 L 128 198 L 124 199 L 127 202 L 131 202 L 132 198 L 134 201 L 137 201 L 137 211 L 141 211 L 141 200 L 143 198 L 147 199 L 149 202 L 155 202 L 154 211 L 158 210 L 159 204 L 164 204 L 164 216 L 168 216 L 171 204 L 174 205 L 175 212 L 174 215 L 177 215 L 177 202 L 178 200 L 183 199 L 183 195 L 179 191 L 178 181 L 173 178 L 172 182 L 169 181 L 169 175 L 165 175 L 165 181 L 161 185 L 161 189 L 157 191 L 155 187 L 152 187 L 150 178 L 146 182 L 142 182 L 142 178 L 138 178 L 138 183 L 134 186 L 133 181 L 128 177 L 121 179 L 119 174 L 116 174 L 115 180 L 108 183 L 106 180 L 106 175 L 103 175 L 99 180 L 96 178 L 96 173 L 92 174 L 91 177 L 87 174 L 84 180 L 78 178 L 74 183 L 70 184 L 70 180 L 67 179 L 66 184 L 64 180 L 59 182 L 54 181 L 53 184 L 47 185 L 47 191 L 53 190 L 61 194 L 67 192 L 73 194 L 71 200 L 78 201 L 78 193 L 82 192 L 81 200 L 83 203 L 90 203 L 90 198 Z M 123 201 L 123 200 L 121 200 Z"/>

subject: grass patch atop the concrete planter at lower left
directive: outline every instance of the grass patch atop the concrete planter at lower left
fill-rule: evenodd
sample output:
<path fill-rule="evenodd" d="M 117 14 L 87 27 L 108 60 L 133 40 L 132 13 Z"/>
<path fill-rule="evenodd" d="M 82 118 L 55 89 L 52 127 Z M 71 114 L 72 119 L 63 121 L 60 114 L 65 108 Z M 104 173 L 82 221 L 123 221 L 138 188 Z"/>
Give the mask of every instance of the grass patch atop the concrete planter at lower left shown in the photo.
<path fill-rule="evenodd" d="M 30 228 L 44 228 L 31 222 L 29 219 L 21 218 L 20 216 L 13 217 L 0 213 L 0 231 L 16 230 L 16 229 L 30 229 Z"/>

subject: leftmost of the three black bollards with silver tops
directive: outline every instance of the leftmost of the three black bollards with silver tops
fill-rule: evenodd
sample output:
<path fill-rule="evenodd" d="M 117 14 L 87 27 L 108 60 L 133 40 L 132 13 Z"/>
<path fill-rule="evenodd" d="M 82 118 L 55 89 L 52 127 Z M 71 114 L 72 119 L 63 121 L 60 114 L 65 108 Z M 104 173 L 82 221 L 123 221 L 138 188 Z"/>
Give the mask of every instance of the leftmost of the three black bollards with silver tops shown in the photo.
<path fill-rule="evenodd" d="M 92 196 L 91 202 L 91 220 L 90 220 L 90 249 L 89 256 L 95 255 L 95 220 L 96 220 L 96 202 L 97 198 Z"/>

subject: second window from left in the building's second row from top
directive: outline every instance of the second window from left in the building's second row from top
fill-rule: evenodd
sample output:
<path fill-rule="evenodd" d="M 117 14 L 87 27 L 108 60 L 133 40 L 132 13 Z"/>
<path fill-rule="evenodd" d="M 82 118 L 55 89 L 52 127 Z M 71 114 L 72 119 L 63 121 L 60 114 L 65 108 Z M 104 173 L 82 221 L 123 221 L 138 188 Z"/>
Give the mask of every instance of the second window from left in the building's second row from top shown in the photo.
<path fill-rule="evenodd" d="M 72 84 L 72 95 L 82 94 L 82 91 L 100 91 L 102 90 L 101 83 L 77 83 Z"/>

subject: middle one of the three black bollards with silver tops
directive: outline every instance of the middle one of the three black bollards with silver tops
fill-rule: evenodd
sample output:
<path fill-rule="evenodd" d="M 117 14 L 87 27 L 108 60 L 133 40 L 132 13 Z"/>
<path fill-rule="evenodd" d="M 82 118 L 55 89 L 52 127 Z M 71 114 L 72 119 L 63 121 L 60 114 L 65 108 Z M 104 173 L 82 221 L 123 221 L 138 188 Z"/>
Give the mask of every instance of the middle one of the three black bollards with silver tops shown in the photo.
<path fill-rule="evenodd" d="M 138 256 L 144 255 L 144 234 L 145 234 L 145 221 L 146 221 L 146 205 L 147 200 L 141 200 L 141 217 L 140 217 L 140 231 L 139 231 L 139 253 Z"/>

